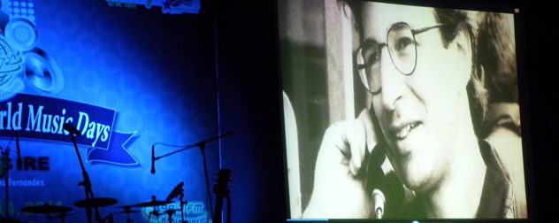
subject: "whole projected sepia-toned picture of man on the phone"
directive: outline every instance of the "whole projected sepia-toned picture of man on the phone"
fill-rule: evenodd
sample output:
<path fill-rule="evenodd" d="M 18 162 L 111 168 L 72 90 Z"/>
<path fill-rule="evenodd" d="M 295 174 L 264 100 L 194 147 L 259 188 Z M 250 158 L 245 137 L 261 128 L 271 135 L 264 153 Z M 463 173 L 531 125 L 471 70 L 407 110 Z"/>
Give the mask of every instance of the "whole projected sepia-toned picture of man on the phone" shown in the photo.
<path fill-rule="evenodd" d="M 278 10 L 289 218 L 528 218 L 513 12 Z"/>

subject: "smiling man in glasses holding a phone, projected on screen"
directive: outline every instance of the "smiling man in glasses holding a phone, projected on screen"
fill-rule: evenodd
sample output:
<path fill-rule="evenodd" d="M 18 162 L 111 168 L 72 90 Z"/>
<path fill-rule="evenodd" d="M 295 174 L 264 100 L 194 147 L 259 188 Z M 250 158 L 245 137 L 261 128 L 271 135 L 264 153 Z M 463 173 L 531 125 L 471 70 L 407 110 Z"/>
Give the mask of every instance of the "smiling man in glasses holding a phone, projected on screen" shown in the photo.
<path fill-rule="evenodd" d="M 387 218 L 526 218 L 524 185 L 518 189 L 509 163 L 483 140 L 491 135 L 480 129 L 488 96 L 467 12 L 346 4 L 371 108 L 326 130 L 303 218 L 379 217 L 365 185 L 373 148 L 386 150 L 409 191 L 401 212 Z M 519 138 L 513 131 L 500 136 Z"/>

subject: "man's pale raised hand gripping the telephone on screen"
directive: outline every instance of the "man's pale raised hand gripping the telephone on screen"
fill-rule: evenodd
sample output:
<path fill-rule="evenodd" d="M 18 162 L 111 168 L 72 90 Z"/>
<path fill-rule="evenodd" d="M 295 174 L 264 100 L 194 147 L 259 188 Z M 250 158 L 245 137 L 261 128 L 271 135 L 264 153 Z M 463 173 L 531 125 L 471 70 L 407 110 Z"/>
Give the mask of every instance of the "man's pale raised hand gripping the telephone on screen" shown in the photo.
<path fill-rule="evenodd" d="M 328 127 L 315 169 L 314 190 L 303 218 L 366 219 L 373 216 L 371 196 L 365 190 L 365 150 L 378 140 L 369 111 L 354 120 Z"/>

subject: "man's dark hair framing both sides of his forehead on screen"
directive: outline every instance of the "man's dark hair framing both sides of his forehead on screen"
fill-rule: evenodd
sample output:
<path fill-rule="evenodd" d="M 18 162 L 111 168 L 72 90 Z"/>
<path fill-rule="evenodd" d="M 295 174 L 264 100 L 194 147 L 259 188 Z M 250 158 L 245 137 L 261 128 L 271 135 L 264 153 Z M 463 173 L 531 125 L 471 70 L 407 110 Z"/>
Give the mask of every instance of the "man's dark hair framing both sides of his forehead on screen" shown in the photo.
<path fill-rule="evenodd" d="M 341 5 L 347 5 L 354 16 L 354 26 L 359 32 L 360 38 L 363 39 L 363 22 L 361 21 L 361 4 L 362 1 L 354 0 L 339 0 Z M 342 7 L 343 8 L 343 7 Z M 473 123 L 476 135 L 481 136 L 479 129 L 482 126 L 483 119 L 487 108 L 487 91 L 484 86 L 483 72 L 478 61 L 478 46 L 474 28 L 467 12 L 453 9 L 433 9 L 433 16 L 440 24 L 445 26 L 440 27 L 440 35 L 444 47 L 447 48 L 448 44 L 456 38 L 456 35 L 463 33 L 467 35 L 471 43 L 471 79 L 466 86 L 468 92 L 468 99 L 470 103 L 471 121 Z M 363 41 L 363 40 L 361 40 Z"/>

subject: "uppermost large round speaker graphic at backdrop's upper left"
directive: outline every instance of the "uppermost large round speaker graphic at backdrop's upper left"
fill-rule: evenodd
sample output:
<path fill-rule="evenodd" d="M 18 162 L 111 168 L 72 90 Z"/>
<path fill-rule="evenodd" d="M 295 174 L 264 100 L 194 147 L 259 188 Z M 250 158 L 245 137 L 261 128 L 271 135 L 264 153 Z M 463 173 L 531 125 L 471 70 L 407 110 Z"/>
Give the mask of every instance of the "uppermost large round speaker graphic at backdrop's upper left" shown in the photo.
<path fill-rule="evenodd" d="M 28 19 L 10 19 L 4 30 L 6 41 L 10 42 L 11 46 L 15 49 L 27 51 L 34 49 L 35 45 L 37 45 L 39 33 L 34 24 Z"/>

